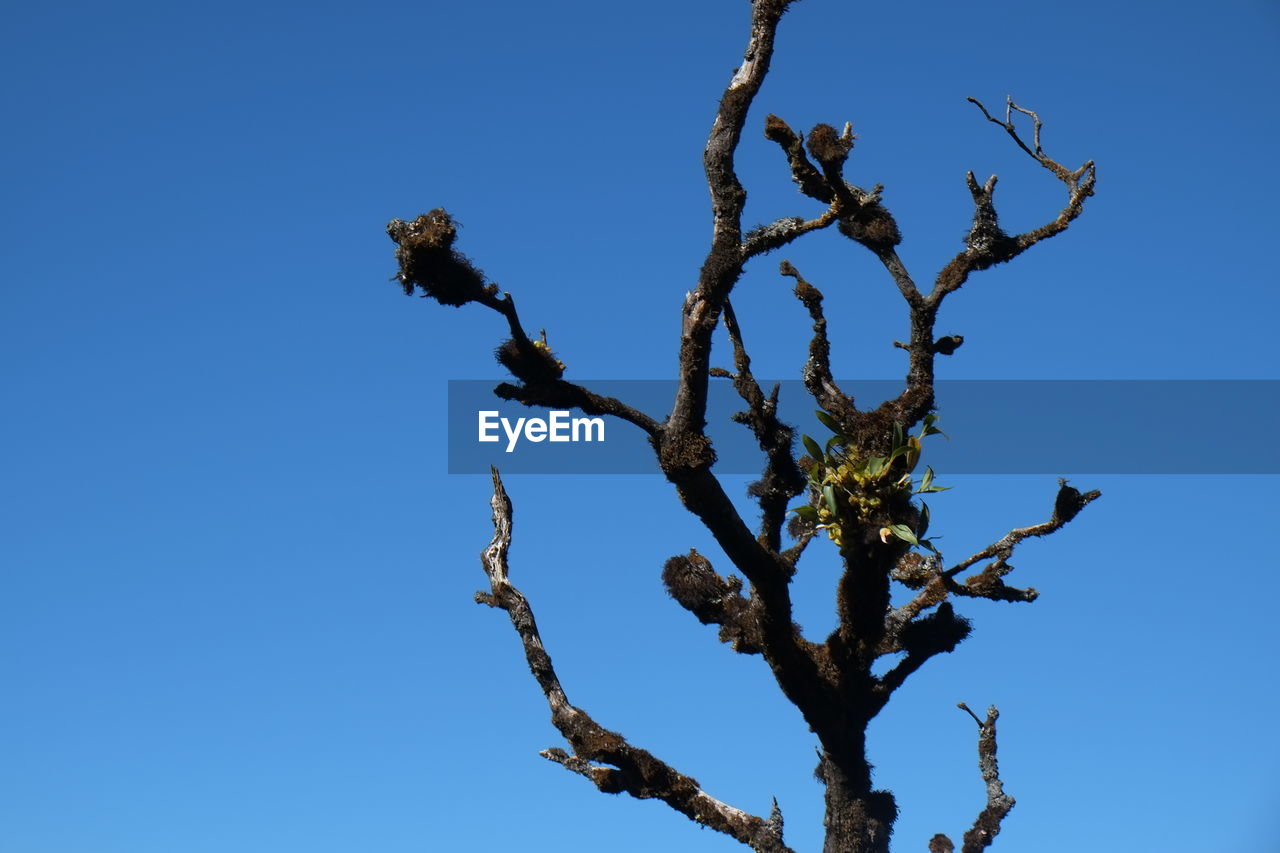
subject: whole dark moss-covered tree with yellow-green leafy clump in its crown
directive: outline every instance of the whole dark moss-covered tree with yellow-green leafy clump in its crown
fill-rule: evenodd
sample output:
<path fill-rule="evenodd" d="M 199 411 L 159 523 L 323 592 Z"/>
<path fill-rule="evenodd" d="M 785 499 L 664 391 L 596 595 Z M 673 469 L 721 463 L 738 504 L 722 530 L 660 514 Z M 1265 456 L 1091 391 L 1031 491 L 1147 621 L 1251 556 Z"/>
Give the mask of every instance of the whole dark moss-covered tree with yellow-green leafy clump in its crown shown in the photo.
<path fill-rule="evenodd" d="M 824 853 L 876 853 L 890 849 L 897 806 L 892 793 L 873 786 L 865 749 L 869 722 L 913 672 L 932 657 L 955 649 L 969 634 L 969 621 L 956 613 L 954 599 L 1033 601 L 1034 589 L 1005 583 L 1014 567 L 1009 562 L 1014 549 L 1028 538 L 1059 530 L 1098 497 L 1098 492 L 1082 493 L 1060 480 L 1047 521 L 1014 529 L 977 553 L 946 564 L 934 542 L 925 538 L 929 514 L 919 500 L 942 487 L 934 483 L 931 467 L 919 479 L 915 471 L 923 439 L 940 432 L 933 412 L 936 356 L 952 355 L 964 339 L 954 334 L 937 337 L 934 323 L 942 302 L 972 273 L 1012 260 L 1065 231 L 1093 195 L 1096 169 L 1087 161 L 1071 170 L 1046 155 L 1036 113 L 1009 100 L 1001 120 L 970 99 L 1065 186 L 1068 200 L 1046 224 L 1009 234 L 996 215 L 996 177 L 978 183 L 970 172 L 966 184 L 974 213 L 964 248 L 923 292 L 897 255 L 901 233 L 882 202 L 883 187 L 861 188 L 844 175 L 855 141 L 850 126 L 837 132 L 818 124 L 803 136 L 769 115 L 764 136 L 782 150 L 800 192 L 822 207 L 812 218 L 783 216 L 745 232 L 746 191 L 735 170 L 735 152 L 748 110 L 768 73 L 778 23 L 791 3 L 751 3 L 742 64 L 721 97 L 703 154 L 713 233 L 696 287 L 684 301 L 677 388 L 666 419 L 655 420 L 621 400 L 564 379 L 564 362 L 547 345 L 545 333 L 531 338 L 511 295 L 500 292 L 454 248 L 457 225 L 443 209 L 412 222 L 393 220 L 387 231 L 397 243 L 397 279 L 406 293 L 421 291 L 451 306 L 475 302 L 506 319 L 509 338 L 498 346 L 497 356 L 515 382 L 499 384 L 494 389 L 498 397 L 526 406 L 609 415 L 648 434 L 658 466 L 676 487 L 680 501 L 701 520 L 741 574 L 722 573 L 705 556 L 690 551 L 664 565 L 662 580 L 667 590 L 699 621 L 717 625 L 721 640 L 735 652 L 760 656 L 817 736 L 817 777 L 826 788 Z M 1015 124 L 1019 115 L 1032 122 L 1029 143 Z M 803 437 L 804 453 L 797 456 L 795 430 L 777 414 L 778 388 L 767 393 L 751 373 L 730 296 L 750 260 L 832 225 L 879 260 L 905 300 L 910 338 L 896 346 L 908 352 L 908 373 L 895 398 L 873 409 L 859 407 L 831 373 L 822 292 L 783 260 L 780 272 L 795 280 L 795 296 L 813 328 L 804 386 L 819 407 L 819 420 L 832 432 L 824 444 Z M 732 350 L 731 369 L 710 364 L 713 333 L 722 323 Z M 759 508 L 754 530 L 712 471 L 716 452 L 705 432 L 712 378 L 728 379 L 741 396 L 745 409 L 735 419 L 751 430 L 764 459 L 763 475 L 749 489 Z M 602 792 L 659 799 L 762 853 L 790 850 L 776 804 L 771 815 L 759 816 L 721 802 L 691 776 L 570 702 L 543 647 L 532 608 L 509 579 L 512 502 L 497 470 L 492 510 L 494 535 L 481 555 L 489 590 L 476 598 L 507 611 L 550 707 L 552 722 L 570 747 L 541 754 L 585 776 Z M 822 639 L 805 637 L 792 620 L 790 584 L 814 539 L 832 540 L 841 561 L 838 625 Z M 986 565 L 972 571 L 979 564 Z M 906 590 L 901 597 L 905 603 L 895 606 L 893 584 Z M 877 674 L 874 667 L 882 658 L 888 666 Z M 987 804 L 963 839 L 961 849 L 972 853 L 992 843 L 1014 799 L 1005 794 L 996 763 L 996 708 L 979 717 L 963 703 L 960 707 L 978 724 L 979 768 L 987 789 Z M 955 844 L 938 834 L 928 841 L 928 849 L 954 850 Z"/>

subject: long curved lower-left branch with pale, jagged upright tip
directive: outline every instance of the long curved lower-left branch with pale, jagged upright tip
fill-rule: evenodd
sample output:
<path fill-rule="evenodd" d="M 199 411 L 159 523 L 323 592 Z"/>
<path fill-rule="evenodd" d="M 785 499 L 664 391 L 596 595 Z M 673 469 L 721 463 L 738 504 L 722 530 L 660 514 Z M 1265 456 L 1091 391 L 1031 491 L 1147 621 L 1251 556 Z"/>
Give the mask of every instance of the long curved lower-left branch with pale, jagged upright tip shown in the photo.
<path fill-rule="evenodd" d="M 792 853 L 782 841 L 782 818 L 777 803 L 769 818 L 722 803 L 701 790 L 698 780 L 678 772 L 648 751 L 632 747 L 621 734 L 604 729 L 585 711 L 570 703 L 550 656 L 543 647 L 534 611 L 509 580 L 507 553 L 511 548 L 513 512 L 498 469 L 492 470 L 494 533 L 489 546 L 480 553 L 480 564 L 489 578 L 489 592 L 476 593 L 476 601 L 507 611 L 525 647 L 529 669 L 547 697 L 552 724 L 573 748 L 573 754 L 559 748 L 547 749 L 541 754 L 590 779 L 602 792 L 627 793 L 637 799 L 660 799 L 690 820 L 724 833 L 753 850 Z"/>

